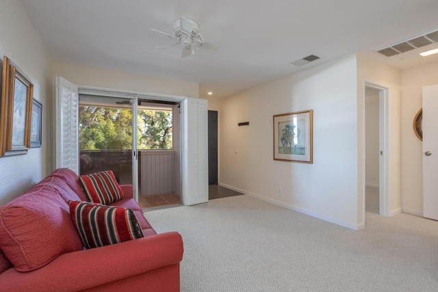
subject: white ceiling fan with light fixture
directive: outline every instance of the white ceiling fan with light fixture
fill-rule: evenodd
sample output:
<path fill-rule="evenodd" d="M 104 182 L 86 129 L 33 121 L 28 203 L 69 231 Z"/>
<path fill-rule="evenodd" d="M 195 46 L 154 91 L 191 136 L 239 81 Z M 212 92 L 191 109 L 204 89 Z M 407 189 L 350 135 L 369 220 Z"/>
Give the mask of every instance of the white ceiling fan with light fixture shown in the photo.
<path fill-rule="evenodd" d="M 216 51 L 216 47 L 211 44 L 207 44 L 204 42 L 203 36 L 199 30 L 199 24 L 190 18 L 180 17 L 173 23 L 173 34 L 168 34 L 164 31 L 160 31 L 158 29 L 150 28 L 153 31 L 157 31 L 160 34 L 164 34 L 168 36 L 168 38 L 172 38 L 175 40 L 172 44 L 165 44 L 164 46 L 157 46 L 158 48 L 164 47 L 174 47 L 179 44 L 182 45 L 182 53 L 181 57 L 188 57 L 190 55 L 194 55 L 194 51 L 200 50 L 201 47 L 209 48 Z"/>

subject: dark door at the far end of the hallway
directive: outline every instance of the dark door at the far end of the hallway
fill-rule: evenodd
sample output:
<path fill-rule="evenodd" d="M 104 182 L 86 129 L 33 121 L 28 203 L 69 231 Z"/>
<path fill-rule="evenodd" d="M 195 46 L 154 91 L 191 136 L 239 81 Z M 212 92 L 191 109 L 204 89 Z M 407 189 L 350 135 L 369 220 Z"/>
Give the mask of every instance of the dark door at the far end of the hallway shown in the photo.
<path fill-rule="evenodd" d="M 208 184 L 218 184 L 218 111 L 208 111 Z"/>

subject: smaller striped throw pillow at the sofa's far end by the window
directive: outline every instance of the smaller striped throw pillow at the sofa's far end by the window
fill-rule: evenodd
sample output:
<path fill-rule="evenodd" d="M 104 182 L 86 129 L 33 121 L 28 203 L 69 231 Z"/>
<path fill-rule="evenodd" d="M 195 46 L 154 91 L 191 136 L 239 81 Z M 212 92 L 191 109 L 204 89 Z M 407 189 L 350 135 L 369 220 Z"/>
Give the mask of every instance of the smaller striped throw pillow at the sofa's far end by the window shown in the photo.
<path fill-rule="evenodd" d="M 88 202 L 111 204 L 123 199 L 123 191 L 111 170 L 79 177 Z"/>

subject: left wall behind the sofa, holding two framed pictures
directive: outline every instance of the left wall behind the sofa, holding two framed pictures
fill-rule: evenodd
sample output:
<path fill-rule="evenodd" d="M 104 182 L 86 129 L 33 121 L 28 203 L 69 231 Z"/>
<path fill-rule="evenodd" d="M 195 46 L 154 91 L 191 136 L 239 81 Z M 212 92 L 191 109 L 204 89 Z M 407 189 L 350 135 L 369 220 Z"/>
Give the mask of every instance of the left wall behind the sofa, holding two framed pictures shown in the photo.
<path fill-rule="evenodd" d="M 0 158 L 0 204 L 22 194 L 49 174 L 51 161 L 51 58 L 31 25 L 20 1 L 0 1 L 0 57 L 9 57 L 34 83 L 34 98 L 42 103 L 42 148 L 27 155 Z"/>

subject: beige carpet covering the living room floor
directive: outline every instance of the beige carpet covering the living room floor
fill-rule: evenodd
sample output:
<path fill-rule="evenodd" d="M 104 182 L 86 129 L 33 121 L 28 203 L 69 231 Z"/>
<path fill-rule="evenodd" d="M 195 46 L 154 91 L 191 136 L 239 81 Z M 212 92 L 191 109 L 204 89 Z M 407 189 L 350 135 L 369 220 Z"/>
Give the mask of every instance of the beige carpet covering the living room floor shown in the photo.
<path fill-rule="evenodd" d="M 354 231 L 246 195 L 145 215 L 183 236 L 181 291 L 438 291 L 438 222 L 413 215 Z"/>

